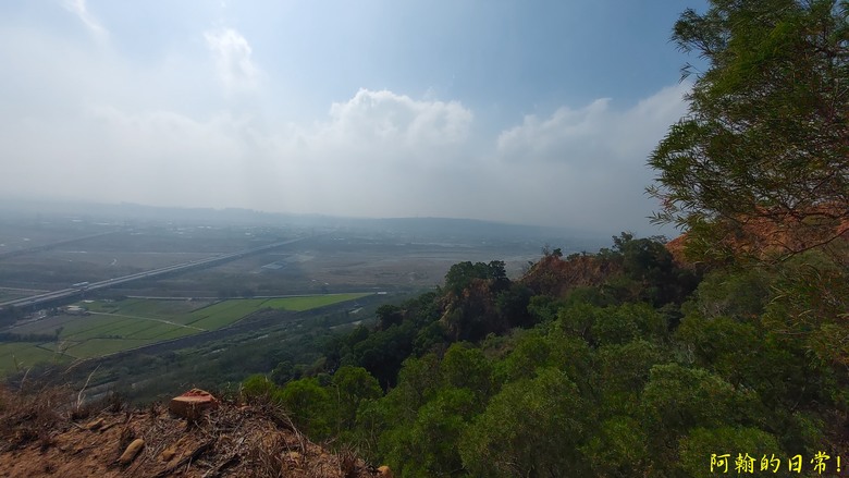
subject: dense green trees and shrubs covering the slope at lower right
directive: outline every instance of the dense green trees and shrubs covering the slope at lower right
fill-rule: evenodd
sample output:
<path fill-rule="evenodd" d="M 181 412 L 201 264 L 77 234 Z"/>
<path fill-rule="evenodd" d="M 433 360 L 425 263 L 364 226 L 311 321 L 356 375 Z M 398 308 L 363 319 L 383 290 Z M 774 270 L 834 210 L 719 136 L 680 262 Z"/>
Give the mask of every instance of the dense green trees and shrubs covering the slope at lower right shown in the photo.
<path fill-rule="evenodd" d="M 694 281 L 645 241 L 660 244 L 623 234 L 596 256 L 549 256 L 516 282 L 481 268 L 459 294 L 446 287 L 380 307 L 374 330 L 328 342 L 311 377 L 278 385 L 257 376 L 244 393 L 282 404 L 310 437 L 354 445 L 401 476 L 705 476 L 712 454 L 786 462 L 835 452 L 848 405 L 837 352 L 821 357 L 813 330 L 775 322 L 798 304 L 780 289 L 798 266 L 713 270 L 676 295 L 682 302 L 661 303 L 644 280 L 628 285 L 635 294 L 594 303 L 645 278 L 633 270 Z M 497 307 L 480 306 L 524 286 L 541 263 L 588 258 L 644 267 L 561 296 L 529 290 L 530 321 L 506 331 Z M 456 310 L 471 307 L 465 302 L 490 314 L 473 342 L 450 332 Z"/>

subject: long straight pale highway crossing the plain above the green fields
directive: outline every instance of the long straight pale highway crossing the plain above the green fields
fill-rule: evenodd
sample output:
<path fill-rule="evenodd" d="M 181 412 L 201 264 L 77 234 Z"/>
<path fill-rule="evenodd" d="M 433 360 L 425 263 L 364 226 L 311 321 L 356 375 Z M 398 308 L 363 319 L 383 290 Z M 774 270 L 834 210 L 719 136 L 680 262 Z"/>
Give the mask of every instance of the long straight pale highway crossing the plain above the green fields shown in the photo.
<path fill-rule="evenodd" d="M 177 271 L 185 271 L 188 269 L 200 269 L 204 267 L 210 267 L 216 266 L 218 263 L 223 263 L 230 260 L 238 259 L 245 256 L 249 256 L 251 254 L 262 253 L 269 249 L 274 249 L 281 246 L 285 246 L 287 244 L 297 243 L 300 241 L 305 241 L 308 238 L 312 238 L 315 236 L 306 236 L 306 237 L 297 237 L 288 241 L 281 241 L 272 244 L 267 244 L 264 246 L 254 247 L 250 249 L 244 249 L 238 250 L 235 253 L 229 253 L 229 254 L 221 254 L 213 257 L 208 257 L 206 259 L 197 259 L 192 260 L 188 262 L 177 263 L 174 266 L 168 266 L 162 267 L 159 269 L 148 270 L 144 272 L 137 272 L 130 275 L 123 275 L 120 278 L 113 278 L 113 279 L 107 279 L 104 281 L 99 282 L 91 282 L 88 285 L 84 287 L 69 287 L 69 289 L 62 289 L 60 291 L 52 291 L 45 294 L 38 294 L 38 295 L 32 295 L 29 297 L 22 297 L 16 298 L 14 301 L 7 301 L 3 303 L 0 303 L 0 309 L 4 309 L 8 307 L 33 307 L 38 306 L 40 304 L 51 303 L 54 301 L 60 301 L 69 297 L 73 297 L 75 295 L 81 295 L 83 292 L 88 291 L 98 291 L 101 289 L 109 289 L 119 284 L 124 284 L 132 281 L 138 281 L 142 279 L 150 279 L 158 275 L 164 275 Z"/>

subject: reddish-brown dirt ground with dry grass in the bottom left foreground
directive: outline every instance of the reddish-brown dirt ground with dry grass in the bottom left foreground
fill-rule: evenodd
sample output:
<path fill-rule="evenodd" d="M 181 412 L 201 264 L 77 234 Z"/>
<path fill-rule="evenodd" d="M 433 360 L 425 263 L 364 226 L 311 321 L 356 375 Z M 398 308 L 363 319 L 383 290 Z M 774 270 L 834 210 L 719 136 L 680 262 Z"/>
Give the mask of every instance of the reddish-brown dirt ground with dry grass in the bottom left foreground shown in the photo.
<path fill-rule="evenodd" d="M 0 390 L 0 477 L 380 476 L 353 453 L 309 442 L 282 410 L 268 406 L 222 403 L 188 421 L 160 405 L 69 408 L 73 395 Z M 137 439 L 144 446 L 122 464 Z"/>

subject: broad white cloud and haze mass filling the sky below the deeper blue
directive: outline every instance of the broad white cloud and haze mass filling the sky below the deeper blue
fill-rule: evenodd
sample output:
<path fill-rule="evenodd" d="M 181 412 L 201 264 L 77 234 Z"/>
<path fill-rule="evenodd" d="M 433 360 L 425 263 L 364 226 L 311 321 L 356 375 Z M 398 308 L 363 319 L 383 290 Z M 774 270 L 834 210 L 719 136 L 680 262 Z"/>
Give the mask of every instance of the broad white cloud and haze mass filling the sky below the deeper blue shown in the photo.
<path fill-rule="evenodd" d="M 288 3 L 102 4 L 57 0 L 0 21 L 0 193 L 645 230 L 645 159 L 685 112 L 677 85 L 630 106 L 599 98 L 505 118 L 556 91 L 479 74 L 448 87 L 440 68 L 401 74 L 369 9 L 371 23 L 315 27 L 320 11 Z M 436 58 L 422 53 L 415 68 Z M 484 63 L 471 70 L 492 71 Z M 434 94 L 478 81 L 496 88 Z"/>

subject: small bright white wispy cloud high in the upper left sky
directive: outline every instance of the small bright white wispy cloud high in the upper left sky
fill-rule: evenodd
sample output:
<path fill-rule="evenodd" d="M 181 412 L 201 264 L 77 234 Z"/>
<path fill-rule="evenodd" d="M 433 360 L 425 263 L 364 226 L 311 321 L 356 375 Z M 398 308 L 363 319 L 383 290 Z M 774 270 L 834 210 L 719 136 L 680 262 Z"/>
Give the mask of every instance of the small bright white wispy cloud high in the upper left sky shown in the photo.
<path fill-rule="evenodd" d="M 207 47 L 216 61 L 221 83 L 229 91 L 245 91 L 259 85 L 260 70 L 251 60 L 247 39 L 233 28 L 204 33 Z"/>

